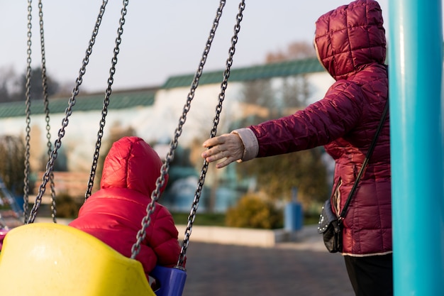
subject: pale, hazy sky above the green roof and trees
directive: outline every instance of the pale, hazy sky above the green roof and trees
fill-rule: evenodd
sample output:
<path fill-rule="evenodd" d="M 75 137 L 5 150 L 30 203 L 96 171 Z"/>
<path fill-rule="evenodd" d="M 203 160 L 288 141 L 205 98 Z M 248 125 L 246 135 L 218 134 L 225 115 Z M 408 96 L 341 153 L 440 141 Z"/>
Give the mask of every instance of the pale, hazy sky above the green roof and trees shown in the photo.
<path fill-rule="evenodd" d="M 388 28 L 388 1 L 380 0 Z M 101 0 L 43 0 L 45 52 L 48 75 L 74 86 Z M 311 43 L 316 19 L 348 4 L 344 0 L 246 1 L 233 68 L 260 65 L 270 52 L 286 50 L 294 41 Z M 235 16 L 240 1 L 226 1 L 205 71 L 226 65 Z M 167 77 L 194 74 L 216 16 L 219 0 L 129 1 L 123 26 L 113 89 L 157 86 Z M 82 89 L 104 91 L 123 1 L 106 7 Z M 0 74 L 26 70 L 28 1 L 0 0 Z M 40 65 L 38 0 L 33 1 L 32 65 Z"/>

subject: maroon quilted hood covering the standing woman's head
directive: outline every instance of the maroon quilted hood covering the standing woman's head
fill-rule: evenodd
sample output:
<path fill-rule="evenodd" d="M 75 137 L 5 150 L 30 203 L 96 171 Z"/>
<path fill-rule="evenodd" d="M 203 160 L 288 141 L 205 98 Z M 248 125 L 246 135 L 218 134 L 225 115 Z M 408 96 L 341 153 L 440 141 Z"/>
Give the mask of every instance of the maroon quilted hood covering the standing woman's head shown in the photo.
<path fill-rule="evenodd" d="M 316 21 L 314 43 L 319 61 L 335 80 L 386 56 L 382 10 L 377 1 L 357 0 L 330 11 Z"/>

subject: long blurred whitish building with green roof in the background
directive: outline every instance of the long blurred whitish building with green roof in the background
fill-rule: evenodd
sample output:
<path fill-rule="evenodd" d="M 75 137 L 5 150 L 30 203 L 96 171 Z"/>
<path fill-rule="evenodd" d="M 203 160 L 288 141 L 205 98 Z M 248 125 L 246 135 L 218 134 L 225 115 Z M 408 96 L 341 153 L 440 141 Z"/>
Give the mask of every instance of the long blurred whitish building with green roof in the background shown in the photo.
<path fill-rule="evenodd" d="M 306 60 L 292 60 L 251 67 L 231 69 L 226 89 L 226 98 L 223 103 L 220 132 L 228 128 L 224 121 L 237 119 L 236 116 L 245 116 L 240 112 L 240 92 L 243 84 L 255 80 L 279 80 L 284 77 L 305 75 L 312 87 L 311 96 L 319 98 L 331 84 L 332 79 L 319 64 L 316 58 Z M 132 128 L 138 136 L 145 138 L 149 143 L 169 143 L 174 130 L 182 115 L 184 104 L 187 102 L 190 86 L 194 74 L 171 76 L 160 87 L 149 89 L 113 90 L 109 99 L 108 114 L 104 128 L 104 141 L 111 128 Z M 214 109 L 221 92 L 223 70 L 203 72 L 199 79 L 191 104 L 187 121 L 184 124 L 182 145 L 187 146 L 194 138 L 205 138 L 209 135 L 213 124 Z M 85 165 L 78 155 L 92 155 L 96 142 L 96 134 L 101 121 L 101 110 L 104 106 L 105 94 L 82 94 L 75 98 L 72 115 L 68 117 L 62 146 L 67 143 L 67 153 L 72 154 L 72 170 L 84 170 Z M 57 131 L 62 126 L 70 96 L 50 97 L 50 131 L 52 141 L 57 138 Z M 225 112 L 225 113 L 224 113 Z M 45 114 L 43 101 L 32 101 L 30 104 L 30 128 L 33 142 L 42 148 L 34 148 L 36 153 L 45 150 Z M 26 132 L 26 104 L 25 102 L 9 102 L 0 104 L 0 136 L 25 136 Z M 229 118 L 232 117 L 232 118 Z M 228 119 L 229 118 L 229 119 Z M 37 138 L 36 138 L 37 137 Z M 40 138 L 40 139 L 39 139 Z M 77 150 L 82 149 L 80 153 Z M 89 152 L 88 152 L 89 151 Z M 77 155 L 77 156 L 74 156 Z M 40 158 L 41 155 L 36 156 Z"/>

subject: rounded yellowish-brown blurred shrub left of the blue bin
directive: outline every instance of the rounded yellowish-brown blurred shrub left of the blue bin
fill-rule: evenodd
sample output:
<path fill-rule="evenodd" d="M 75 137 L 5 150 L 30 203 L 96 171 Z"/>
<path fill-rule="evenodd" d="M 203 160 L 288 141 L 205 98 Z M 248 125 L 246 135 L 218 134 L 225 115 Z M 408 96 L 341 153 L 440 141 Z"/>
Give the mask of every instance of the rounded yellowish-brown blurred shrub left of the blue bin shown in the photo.
<path fill-rule="evenodd" d="M 282 228 L 283 214 L 270 200 L 250 193 L 241 197 L 235 207 L 228 209 L 226 224 L 231 227 L 278 229 Z"/>

